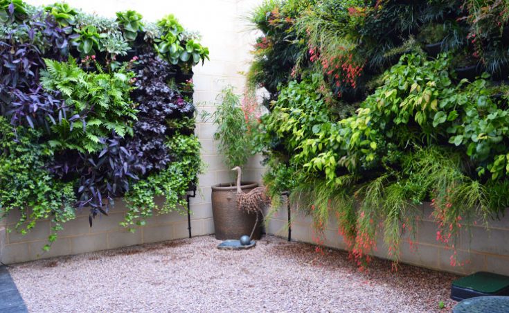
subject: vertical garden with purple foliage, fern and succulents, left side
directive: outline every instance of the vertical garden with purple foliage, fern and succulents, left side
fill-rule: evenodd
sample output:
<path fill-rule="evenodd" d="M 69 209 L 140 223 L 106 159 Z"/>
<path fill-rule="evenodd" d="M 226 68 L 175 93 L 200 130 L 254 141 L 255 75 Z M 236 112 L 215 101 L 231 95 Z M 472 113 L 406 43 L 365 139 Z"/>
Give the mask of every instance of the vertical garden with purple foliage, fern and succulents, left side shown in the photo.
<path fill-rule="evenodd" d="M 184 204 L 202 167 L 197 34 L 173 15 L 151 24 L 21 0 L 0 0 L 0 21 L 0 209 L 21 212 L 18 231 L 51 218 L 51 243 L 76 208 L 90 207 L 92 224 L 116 197 L 126 227 Z"/>

